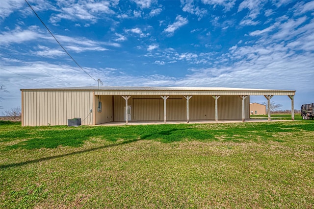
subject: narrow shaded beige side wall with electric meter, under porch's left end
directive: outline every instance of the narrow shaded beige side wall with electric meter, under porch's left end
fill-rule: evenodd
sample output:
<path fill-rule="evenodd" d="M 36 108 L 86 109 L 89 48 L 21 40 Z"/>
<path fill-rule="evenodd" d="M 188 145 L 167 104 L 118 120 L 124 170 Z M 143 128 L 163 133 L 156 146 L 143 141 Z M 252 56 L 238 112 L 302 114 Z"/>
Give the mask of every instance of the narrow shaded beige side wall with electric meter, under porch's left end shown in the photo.
<path fill-rule="evenodd" d="M 98 112 L 98 102 L 102 102 L 102 111 Z M 95 96 L 96 124 L 113 121 L 112 96 Z"/>

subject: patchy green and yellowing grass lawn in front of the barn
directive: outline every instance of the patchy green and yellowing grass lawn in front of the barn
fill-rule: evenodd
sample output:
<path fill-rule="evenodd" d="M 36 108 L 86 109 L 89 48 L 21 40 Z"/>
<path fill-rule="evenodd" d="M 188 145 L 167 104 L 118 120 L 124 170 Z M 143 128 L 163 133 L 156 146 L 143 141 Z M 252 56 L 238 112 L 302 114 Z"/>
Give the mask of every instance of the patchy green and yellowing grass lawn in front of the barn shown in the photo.
<path fill-rule="evenodd" d="M 314 121 L 0 121 L 0 208 L 314 208 Z"/>

